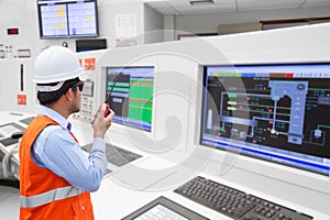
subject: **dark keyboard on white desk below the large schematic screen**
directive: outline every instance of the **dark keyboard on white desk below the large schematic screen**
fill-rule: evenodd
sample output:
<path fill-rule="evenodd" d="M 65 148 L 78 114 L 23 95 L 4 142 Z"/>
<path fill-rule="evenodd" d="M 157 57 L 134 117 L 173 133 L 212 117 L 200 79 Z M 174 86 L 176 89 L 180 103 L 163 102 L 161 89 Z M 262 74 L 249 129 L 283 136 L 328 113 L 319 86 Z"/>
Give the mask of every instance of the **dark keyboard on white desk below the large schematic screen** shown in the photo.
<path fill-rule="evenodd" d="M 175 193 L 237 220 L 309 220 L 312 217 L 197 176 Z"/>

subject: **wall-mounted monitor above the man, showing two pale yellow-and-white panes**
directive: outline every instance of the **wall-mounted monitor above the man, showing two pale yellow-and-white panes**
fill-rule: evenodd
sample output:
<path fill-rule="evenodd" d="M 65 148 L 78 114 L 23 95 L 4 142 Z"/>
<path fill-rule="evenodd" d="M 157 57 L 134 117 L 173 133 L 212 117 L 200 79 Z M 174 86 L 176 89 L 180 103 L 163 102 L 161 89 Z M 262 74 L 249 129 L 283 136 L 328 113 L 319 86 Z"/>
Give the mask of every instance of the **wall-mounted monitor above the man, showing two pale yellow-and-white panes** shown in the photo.
<path fill-rule="evenodd" d="M 98 36 L 97 0 L 38 0 L 42 38 Z"/>

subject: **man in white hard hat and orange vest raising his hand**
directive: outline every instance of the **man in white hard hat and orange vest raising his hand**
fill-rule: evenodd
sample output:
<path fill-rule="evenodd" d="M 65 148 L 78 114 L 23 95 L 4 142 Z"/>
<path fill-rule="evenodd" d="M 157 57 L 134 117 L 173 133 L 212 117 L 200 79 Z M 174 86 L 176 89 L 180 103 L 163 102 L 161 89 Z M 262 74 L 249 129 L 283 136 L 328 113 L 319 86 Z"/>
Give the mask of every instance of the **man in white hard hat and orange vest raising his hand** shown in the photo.
<path fill-rule="evenodd" d="M 41 103 L 20 145 L 20 219 L 94 219 L 90 191 L 107 168 L 105 133 L 114 112 L 102 105 L 92 122 L 90 154 L 70 133 L 67 118 L 80 110 L 84 74 L 76 55 L 53 46 L 35 59 L 34 78 Z"/>

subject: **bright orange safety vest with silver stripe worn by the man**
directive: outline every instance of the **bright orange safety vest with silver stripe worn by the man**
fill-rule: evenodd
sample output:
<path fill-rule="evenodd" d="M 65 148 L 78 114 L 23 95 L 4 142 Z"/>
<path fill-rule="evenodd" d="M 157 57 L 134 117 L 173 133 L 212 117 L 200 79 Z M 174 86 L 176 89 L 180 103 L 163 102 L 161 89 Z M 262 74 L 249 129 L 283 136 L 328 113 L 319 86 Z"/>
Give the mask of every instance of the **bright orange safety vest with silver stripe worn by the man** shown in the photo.
<path fill-rule="evenodd" d="M 21 141 L 20 219 L 91 220 L 94 213 L 90 194 L 72 186 L 52 170 L 40 167 L 31 157 L 35 139 L 51 124 L 58 125 L 48 117 L 35 117 Z M 75 136 L 74 139 L 76 140 Z"/>

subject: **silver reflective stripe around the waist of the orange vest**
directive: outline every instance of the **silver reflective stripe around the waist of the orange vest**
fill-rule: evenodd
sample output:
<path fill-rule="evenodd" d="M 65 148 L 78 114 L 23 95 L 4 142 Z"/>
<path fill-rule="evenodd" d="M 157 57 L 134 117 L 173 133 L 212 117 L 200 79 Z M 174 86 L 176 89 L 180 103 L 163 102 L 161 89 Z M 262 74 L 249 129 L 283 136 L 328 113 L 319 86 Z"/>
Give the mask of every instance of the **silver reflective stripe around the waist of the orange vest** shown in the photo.
<path fill-rule="evenodd" d="M 57 201 L 73 196 L 78 196 L 79 194 L 82 193 L 84 193 L 82 190 L 76 187 L 67 186 L 67 187 L 53 189 L 35 196 L 21 196 L 20 201 L 22 208 L 35 208 L 38 206 L 50 204 L 52 201 Z"/>

